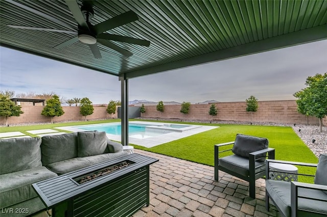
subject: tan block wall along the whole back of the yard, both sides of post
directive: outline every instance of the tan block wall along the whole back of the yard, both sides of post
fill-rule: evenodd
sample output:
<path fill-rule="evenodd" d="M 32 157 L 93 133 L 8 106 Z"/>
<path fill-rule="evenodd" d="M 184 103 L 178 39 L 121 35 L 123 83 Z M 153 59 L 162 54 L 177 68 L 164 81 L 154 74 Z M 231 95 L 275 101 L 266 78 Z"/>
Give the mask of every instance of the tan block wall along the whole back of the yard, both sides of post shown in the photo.
<path fill-rule="evenodd" d="M 181 105 L 164 105 L 164 112 L 156 110 L 156 105 L 146 105 L 146 112 L 142 114 L 144 118 L 164 118 L 180 119 L 182 121 L 194 120 L 221 120 L 221 121 L 245 121 L 245 122 L 272 122 L 286 124 L 310 124 L 318 125 L 319 120 L 315 117 L 307 117 L 297 112 L 295 100 L 279 101 L 259 101 L 257 112 L 246 112 L 246 102 L 218 102 L 215 103 L 218 108 L 217 116 L 209 115 L 211 104 L 191 104 L 189 114 L 180 112 Z M 51 122 L 50 117 L 41 115 L 44 106 L 22 105 L 22 111 L 19 117 L 8 118 L 8 124 L 19 123 L 46 123 Z M 111 117 L 106 112 L 106 106 L 94 106 L 94 113 L 86 117 L 87 120 L 117 118 L 118 112 Z M 60 117 L 54 117 L 54 122 L 64 121 L 84 121 L 84 116 L 80 114 L 79 106 L 63 106 L 65 112 Z M 134 108 L 135 110 L 135 108 Z M 5 118 L 0 117 L 0 124 L 5 124 Z M 327 126 L 327 117 L 323 119 L 323 125 Z"/>

